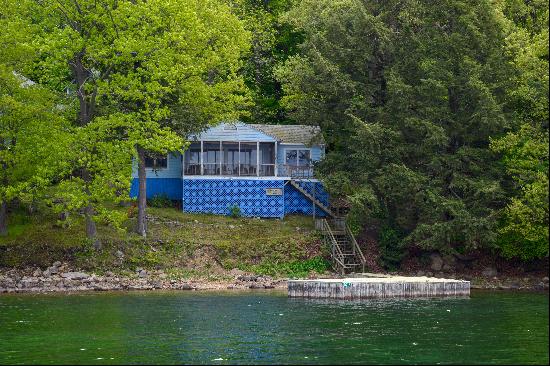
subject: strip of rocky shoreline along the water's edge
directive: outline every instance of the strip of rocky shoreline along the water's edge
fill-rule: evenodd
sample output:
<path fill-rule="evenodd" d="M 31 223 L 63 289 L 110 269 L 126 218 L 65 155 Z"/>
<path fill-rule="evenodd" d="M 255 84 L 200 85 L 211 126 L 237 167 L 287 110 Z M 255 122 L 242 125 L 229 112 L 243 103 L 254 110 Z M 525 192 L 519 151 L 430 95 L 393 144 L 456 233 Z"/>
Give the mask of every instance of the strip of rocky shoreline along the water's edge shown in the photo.
<path fill-rule="evenodd" d="M 418 273 L 400 273 L 415 276 Z M 471 281 L 472 289 L 548 291 L 548 277 L 497 277 L 468 276 L 434 277 L 459 278 Z M 327 276 L 322 276 L 327 277 Z M 328 277 L 339 277 L 336 275 Z M 431 276 L 430 276 L 431 277 Z M 106 272 L 102 275 L 86 273 L 69 267 L 66 263 L 55 262 L 45 270 L 27 267 L 24 269 L 0 269 L 0 294 L 2 293 L 48 293 L 77 291 L 131 291 L 131 290 L 245 290 L 245 289 L 285 289 L 286 279 L 258 276 L 234 269 L 229 271 L 226 280 L 178 279 L 170 278 L 163 271 L 148 272 L 136 270 L 131 276 Z M 232 279 L 231 279 L 232 278 Z"/>

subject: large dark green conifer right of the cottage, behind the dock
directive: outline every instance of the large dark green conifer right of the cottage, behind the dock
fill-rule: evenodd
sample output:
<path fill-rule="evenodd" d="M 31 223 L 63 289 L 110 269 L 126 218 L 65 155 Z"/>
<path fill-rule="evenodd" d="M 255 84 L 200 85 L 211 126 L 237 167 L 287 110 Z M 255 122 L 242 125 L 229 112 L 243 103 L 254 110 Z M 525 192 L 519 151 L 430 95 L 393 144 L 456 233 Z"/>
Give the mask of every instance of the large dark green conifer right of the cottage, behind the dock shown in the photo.
<path fill-rule="evenodd" d="M 277 70 L 282 102 L 322 127 L 320 172 L 351 217 L 403 247 L 493 247 L 505 197 L 489 137 L 509 127 L 510 70 L 492 3 L 304 0 L 285 17 L 305 40 Z"/>

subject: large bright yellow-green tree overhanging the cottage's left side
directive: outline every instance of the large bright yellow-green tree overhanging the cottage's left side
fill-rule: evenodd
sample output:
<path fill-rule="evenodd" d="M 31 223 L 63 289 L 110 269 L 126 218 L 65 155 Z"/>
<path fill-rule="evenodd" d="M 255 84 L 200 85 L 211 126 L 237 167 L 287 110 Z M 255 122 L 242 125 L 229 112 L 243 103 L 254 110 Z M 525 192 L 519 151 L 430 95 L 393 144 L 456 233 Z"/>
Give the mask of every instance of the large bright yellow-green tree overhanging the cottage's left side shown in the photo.
<path fill-rule="evenodd" d="M 247 34 L 214 0 L 24 5 L 16 19 L 39 29 L 39 59 L 24 73 L 72 91 L 77 102 L 71 169 L 59 187 L 67 207 L 84 210 L 99 248 L 95 221 L 119 221 L 103 203 L 127 195 L 132 156 L 143 166 L 146 150 L 181 151 L 184 141 L 169 127 L 188 131 L 244 104 L 236 69 Z M 145 235 L 140 187 L 138 231 Z"/>

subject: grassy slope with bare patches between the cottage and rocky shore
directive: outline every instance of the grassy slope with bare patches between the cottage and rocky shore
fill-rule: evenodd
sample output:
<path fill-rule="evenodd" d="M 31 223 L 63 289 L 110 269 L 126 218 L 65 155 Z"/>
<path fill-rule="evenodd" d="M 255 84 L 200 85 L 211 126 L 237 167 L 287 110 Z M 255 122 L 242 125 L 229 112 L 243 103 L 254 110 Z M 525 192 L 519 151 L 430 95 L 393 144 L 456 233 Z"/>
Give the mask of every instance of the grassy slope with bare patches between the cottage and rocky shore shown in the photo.
<path fill-rule="evenodd" d="M 68 228 L 56 225 L 53 214 L 10 221 L 10 235 L 0 238 L 0 265 L 45 267 L 64 260 L 98 273 L 133 273 L 140 267 L 163 269 L 178 278 L 210 279 L 224 278 L 233 268 L 292 277 L 328 269 L 311 217 L 258 219 L 160 207 L 148 207 L 147 213 L 153 220 L 146 239 L 132 232 L 135 218 L 128 219 L 122 231 L 98 224 L 103 245 L 99 252 L 86 240 L 82 217 L 72 217 Z"/>

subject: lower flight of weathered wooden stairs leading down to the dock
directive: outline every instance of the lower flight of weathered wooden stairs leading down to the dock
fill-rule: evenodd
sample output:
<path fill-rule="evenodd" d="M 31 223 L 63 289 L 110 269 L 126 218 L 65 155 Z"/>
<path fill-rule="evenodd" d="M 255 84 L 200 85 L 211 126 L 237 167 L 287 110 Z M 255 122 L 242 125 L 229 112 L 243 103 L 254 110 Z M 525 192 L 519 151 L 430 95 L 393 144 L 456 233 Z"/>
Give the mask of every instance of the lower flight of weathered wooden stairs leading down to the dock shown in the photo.
<path fill-rule="evenodd" d="M 323 241 L 331 248 L 335 271 L 341 274 L 358 270 L 365 272 L 365 256 L 344 218 L 319 219 L 316 226 L 323 233 Z"/>

